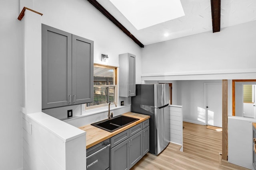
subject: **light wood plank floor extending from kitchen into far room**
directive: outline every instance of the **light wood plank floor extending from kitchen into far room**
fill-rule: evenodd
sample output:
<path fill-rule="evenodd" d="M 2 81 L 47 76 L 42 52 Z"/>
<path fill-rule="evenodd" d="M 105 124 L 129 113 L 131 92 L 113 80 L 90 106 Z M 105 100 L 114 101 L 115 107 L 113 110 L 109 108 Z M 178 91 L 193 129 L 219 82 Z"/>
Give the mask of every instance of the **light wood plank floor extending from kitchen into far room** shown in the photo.
<path fill-rule="evenodd" d="M 147 153 L 132 170 L 248 170 L 234 164 L 218 162 L 221 134 L 206 126 L 184 122 L 183 150 L 171 143 L 158 156 Z"/>

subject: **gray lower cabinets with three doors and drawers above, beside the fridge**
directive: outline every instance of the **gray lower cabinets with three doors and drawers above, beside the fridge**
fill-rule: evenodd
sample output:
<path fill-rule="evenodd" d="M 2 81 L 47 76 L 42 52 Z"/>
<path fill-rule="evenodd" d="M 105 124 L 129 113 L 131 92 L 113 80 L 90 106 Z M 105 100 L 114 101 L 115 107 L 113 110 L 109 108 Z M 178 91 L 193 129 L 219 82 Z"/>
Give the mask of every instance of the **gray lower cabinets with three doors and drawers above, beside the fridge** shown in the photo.
<path fill-rule="evenodd" d="M 149 120 L 110 139 L 110 169 L 129 170 L 149 151 Z M 145 125 L 142 129 L 142 125 Z"/>

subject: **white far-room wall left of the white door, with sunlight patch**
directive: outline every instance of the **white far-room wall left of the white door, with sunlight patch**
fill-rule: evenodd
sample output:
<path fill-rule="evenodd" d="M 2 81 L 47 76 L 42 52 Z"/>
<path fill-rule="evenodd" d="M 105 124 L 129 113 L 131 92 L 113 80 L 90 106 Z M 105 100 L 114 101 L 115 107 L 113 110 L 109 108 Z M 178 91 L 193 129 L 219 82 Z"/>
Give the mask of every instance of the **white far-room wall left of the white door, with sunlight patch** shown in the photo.
<path fill-rule="evenodd" d="M 222 80 L 177 81 L 178 105 L 182 106 L 184 121 L 205 125 L 204 83 L 210 82 Z"/>

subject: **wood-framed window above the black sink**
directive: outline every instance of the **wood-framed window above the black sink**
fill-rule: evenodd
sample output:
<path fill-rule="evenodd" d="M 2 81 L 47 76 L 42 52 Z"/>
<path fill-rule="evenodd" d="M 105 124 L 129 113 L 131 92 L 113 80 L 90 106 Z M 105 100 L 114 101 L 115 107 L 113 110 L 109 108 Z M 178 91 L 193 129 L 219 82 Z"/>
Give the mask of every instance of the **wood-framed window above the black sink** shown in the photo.
<path fill-rule="evenodd" d="M 107 106 L 116 102 L 116 67 L 94 64 L 94 101 L 86 104 L 86 110 Z"/>

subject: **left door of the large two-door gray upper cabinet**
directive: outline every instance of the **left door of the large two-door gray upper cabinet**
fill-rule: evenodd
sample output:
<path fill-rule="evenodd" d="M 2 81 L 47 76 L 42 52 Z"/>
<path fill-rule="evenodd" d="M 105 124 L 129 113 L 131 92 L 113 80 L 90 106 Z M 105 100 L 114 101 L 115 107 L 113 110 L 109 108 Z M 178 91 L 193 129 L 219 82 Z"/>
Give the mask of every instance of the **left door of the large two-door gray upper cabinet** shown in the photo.
<path fill-rule="evenodd" d="M 42 24 L 42 109 L 71 102 L 72 35 Z"/>

